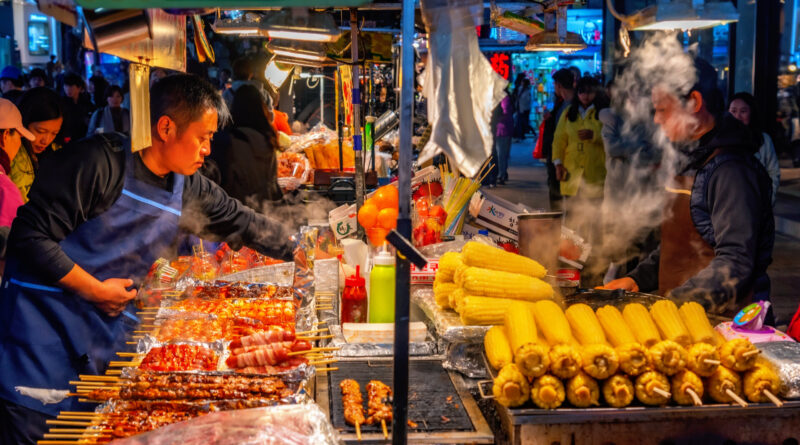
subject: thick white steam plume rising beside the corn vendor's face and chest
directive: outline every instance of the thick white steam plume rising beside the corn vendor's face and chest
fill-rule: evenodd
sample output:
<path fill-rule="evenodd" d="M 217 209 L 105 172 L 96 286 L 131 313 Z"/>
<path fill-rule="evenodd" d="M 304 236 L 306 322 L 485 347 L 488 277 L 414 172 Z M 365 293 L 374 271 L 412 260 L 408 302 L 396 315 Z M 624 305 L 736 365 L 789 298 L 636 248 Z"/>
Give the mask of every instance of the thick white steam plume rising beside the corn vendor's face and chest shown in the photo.
<path fill-rule="evenodd" d="M 649 37 L 624 60 L 611 94 L 612 108 L 621 120 L 619 142 L 625 155 L 606 159 L 603 236 L 595 241 L 601 257 L 598 267 L 627 261 L 625 249 L 660 226 L 670 199 L 664 186 L 675 176 L 682 155 L 653 122 L 651 93 L 656 89 L 682 98 L 696 78 L 692 55 L 674 33 Z M 697 125 L 688 115 L 684 120 L 685 128 Z M 577 225 L 596 225 L 596 208 L 575 210 L 578 218 L 586 218 Z"/>

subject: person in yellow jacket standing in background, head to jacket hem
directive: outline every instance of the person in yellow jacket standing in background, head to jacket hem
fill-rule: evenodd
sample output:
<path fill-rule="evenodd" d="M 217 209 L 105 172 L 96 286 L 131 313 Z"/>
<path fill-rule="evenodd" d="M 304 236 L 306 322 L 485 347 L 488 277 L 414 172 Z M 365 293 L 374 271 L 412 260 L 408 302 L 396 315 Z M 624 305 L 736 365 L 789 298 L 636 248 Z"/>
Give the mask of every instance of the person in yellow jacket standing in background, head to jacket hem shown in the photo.
<path fill-rule="evenodd" d="M 603 197 L 606 156 L 594 105 L 597 81 L 584 77 L 578 81 L 575 99 L 558 120 L 553 138 L 553 163 L 556 178 L 565 197 L 585 199 Z"/>

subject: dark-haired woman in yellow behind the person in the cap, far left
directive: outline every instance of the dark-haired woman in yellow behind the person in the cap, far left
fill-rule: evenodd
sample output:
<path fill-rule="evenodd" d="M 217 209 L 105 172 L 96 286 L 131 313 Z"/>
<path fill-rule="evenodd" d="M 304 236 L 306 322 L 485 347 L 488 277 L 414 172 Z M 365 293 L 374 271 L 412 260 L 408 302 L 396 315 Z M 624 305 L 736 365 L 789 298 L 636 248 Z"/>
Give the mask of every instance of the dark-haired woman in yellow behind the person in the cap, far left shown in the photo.
<path fill-rule="evenodd" d="M 61 98 L 53 90 L 39 87 L 28 90 L 19 100 L 22 124 L 34 136 L 32 141 L 23 140 L 24 149 L 11 160 L 11 180 L 17 185 L 22 200 L 28 202 L 28 192 L 36 177 L 39 160 L 61 148 L 56 143 L 64 122 Z"/>

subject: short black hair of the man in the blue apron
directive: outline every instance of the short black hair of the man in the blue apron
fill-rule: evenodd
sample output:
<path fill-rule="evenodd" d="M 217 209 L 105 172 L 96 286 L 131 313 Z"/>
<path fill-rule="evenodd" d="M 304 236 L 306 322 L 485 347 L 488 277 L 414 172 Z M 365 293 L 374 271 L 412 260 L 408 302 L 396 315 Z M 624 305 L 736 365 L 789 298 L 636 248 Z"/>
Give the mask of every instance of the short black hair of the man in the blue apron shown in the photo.
<path fill-rule="evenodd" d="M 150 90 L 150 125 L 169 116 L 180 133 L 209 108 L 217 111 L 219 127 L 224 127 L 230 119 L 225 101 L 214 86 L 193 74 L 171 74 Z"/>

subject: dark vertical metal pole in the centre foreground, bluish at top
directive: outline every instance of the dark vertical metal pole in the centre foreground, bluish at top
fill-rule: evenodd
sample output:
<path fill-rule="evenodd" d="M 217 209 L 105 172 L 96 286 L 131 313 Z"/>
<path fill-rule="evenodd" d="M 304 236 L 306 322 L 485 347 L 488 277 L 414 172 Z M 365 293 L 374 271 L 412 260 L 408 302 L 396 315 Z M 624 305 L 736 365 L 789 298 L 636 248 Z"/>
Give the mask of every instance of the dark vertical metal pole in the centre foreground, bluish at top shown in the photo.
<path fill-rule="evenodd" d="M 414 0 L 403 0 L 401 29 L 403 30 L 400 54 L 400 159 L 398 183 L 400 211 L 397 231 L 411 239 L 411 130 L 414 105 Z M 406 257 L 396 257 L 396 282 L 394 300 L 394 401 L 392 408 L 392 443 L 404 445 L 407 441 L 408 419 L 408 321 L 411 266 Z"/>

